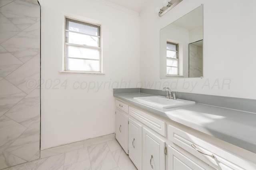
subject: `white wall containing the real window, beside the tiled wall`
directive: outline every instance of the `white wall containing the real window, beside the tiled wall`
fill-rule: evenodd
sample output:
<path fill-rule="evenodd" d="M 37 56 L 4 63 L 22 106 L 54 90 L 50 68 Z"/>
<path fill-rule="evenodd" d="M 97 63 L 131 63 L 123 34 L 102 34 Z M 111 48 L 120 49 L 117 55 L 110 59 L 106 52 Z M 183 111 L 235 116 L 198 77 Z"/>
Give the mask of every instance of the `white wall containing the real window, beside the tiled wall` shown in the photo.
<path fill-rule="evenodd" d="M 41 150 L 113 133 L 112 88 L 136 87 L 139 81 L 139 15 L 98 0 L 40 0 L 40 4 Z M 105 75 L 59 73 L 64 14 L 102 24 Z"/>

